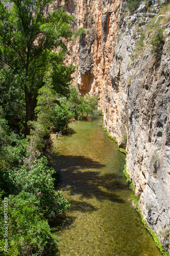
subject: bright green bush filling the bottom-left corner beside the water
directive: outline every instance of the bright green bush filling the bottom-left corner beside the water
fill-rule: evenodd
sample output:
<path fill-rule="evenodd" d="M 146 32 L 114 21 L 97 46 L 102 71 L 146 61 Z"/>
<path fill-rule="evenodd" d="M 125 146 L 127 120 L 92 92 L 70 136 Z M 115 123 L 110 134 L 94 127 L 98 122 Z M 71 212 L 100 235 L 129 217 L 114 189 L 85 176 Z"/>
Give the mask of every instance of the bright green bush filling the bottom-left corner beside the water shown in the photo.
<path fill-rule="evenodd" d="M 46 220 L 39 212 L 40 201 L 35 195 L 21 191 L 17 196 L 8 198 L 8 255 L 42 255 L 58 245 L 57 238 L 51 233 Z M 1 206 L 0 253 L 5 253 L 4 201 Z"/>

